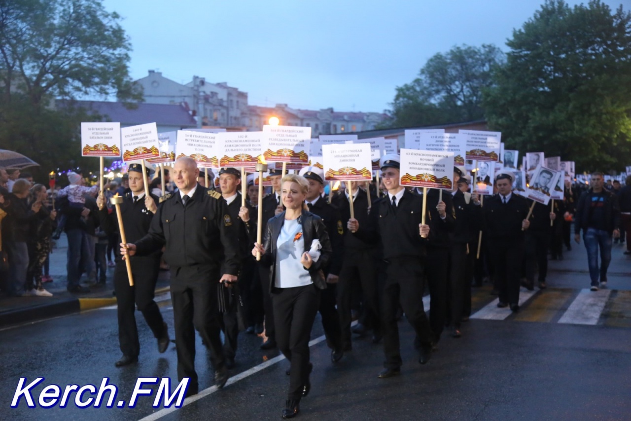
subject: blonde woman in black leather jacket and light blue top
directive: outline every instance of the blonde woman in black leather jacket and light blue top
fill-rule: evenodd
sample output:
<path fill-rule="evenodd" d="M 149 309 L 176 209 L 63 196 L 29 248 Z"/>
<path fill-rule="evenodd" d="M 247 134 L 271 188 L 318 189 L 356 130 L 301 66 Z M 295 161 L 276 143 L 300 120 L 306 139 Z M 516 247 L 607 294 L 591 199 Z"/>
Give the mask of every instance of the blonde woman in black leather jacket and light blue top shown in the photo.
<path fill-rule="evenodd" d="M 286 210 L 269 220 L 263 244 L 256 243 L 252 254 L 260 252 L 261 263 L 270 268 L 276 343 L 291 363 L 282 415 L 293 418 L 298 413 L 300 398 L 307 396 L 311 388 L 309 338 L 320 290 L 326 288 L 323 270 L 332 249 L 324 222 L 304 209 L 307 180 L 288 174 L 281 183 Z"/>

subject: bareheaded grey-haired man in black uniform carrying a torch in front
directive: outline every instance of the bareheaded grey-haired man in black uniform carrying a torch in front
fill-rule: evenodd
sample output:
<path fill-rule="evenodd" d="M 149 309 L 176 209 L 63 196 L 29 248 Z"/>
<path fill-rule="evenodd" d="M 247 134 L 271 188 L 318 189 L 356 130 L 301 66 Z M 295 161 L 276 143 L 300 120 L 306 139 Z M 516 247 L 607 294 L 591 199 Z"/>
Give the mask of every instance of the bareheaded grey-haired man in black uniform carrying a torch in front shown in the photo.
<path fill-rule="evenodd" d="M 171 271 L 171 300 L 177 343 L 177 376 L 189 377 L 187 396 L 199 391 L 195 372 L 195 329 L 211 353 L 215 385 L 228 381 L 217 302 L 218 282 L 239 275 L 236 221 L 216 191 L 199 186 L 199 169 L 191 158 L 178 158 L 172 170 L 177 193 L 167 195 L 151 221 L 149 233 L 121 244 L 121 253 L 146 256 L 165 246 Z M 127 256 L 126 256 L 127 257 Z M 223 271 L 223 275 L 221 275 Z"/>

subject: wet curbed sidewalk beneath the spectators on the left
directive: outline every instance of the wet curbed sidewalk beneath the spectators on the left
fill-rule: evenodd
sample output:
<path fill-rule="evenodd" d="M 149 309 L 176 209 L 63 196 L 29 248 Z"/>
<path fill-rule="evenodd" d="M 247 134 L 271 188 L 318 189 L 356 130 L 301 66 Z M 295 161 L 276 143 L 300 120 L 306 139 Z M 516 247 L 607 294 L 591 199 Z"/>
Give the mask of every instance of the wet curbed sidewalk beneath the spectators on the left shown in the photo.
<path fill-rule="evenodd" d="M 105 287 L 90 288 L 91 291 L 86 294 L 71 294 L 66 290 L 67 251 L 66 234 L 61 234 L 50 254 L 53 282 L 44 283 L 44 288 L 52 293 L 52 297 L 0 297 L 0 328 L 116 304 L 112 280 L 114 268 L 107 268 Z M 168 291 L 168 278 L 168 271 L 160 271 L 156 294 Z M 84 274 L 81 283 L 85 281 Z"/>

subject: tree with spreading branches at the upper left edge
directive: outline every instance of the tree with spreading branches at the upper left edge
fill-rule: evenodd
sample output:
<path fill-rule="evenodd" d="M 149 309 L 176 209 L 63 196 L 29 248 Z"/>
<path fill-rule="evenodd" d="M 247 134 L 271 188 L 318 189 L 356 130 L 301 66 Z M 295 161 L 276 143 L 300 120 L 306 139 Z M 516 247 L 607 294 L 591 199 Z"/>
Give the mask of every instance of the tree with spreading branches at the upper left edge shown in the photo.
<path fill-rule="evenodd" d="M 95 165 L 80 156 L 79 126 L 87 117 L 55 104 L 142 99 L 129 77 L 131 45 L 120 20 L 100 0 L 0 2 L 0 148 L 27 155 L 42 173 Z"/>

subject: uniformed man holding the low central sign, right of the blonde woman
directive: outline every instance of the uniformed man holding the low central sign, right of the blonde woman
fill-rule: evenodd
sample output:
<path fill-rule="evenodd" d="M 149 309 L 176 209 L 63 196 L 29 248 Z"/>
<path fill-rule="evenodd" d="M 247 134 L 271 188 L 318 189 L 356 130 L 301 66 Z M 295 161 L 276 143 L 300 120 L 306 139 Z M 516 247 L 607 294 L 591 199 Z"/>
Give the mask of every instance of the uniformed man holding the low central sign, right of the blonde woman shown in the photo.
<path fill-rule="evenodd" d="M 339 209 L 343 221 L 351 218 L 349 199 L 353 195 L 353 211 L 355 219 L 360 225 L 367 226 L 369 222 L 368 190 L 360 189 L 353 183 L 353 192 L 348 192 L 348 187 L 343 194 L 335 196 L 334 205 Z M 372 203 L 377 200 L 373 197 Z M 377 242 L 364 242 L 350 230 L 344 230 L 344 260 L 339 273 L 338 283 L 338 312 L 342 328 L 342 342 L 345 350 L 351 350 L 351 298 L 353 281 L 358 278 L 362 292 L 363 311 L 359 323 L 353 328 L 353 333 L 365 335 L 367 329 L 373 329 L 372 340 L 378 343 L 381 340 L 381 317 L 379 311 L 379 296 L 377 295 L 377 273 L 379 258 L 379 244 Z"/>

